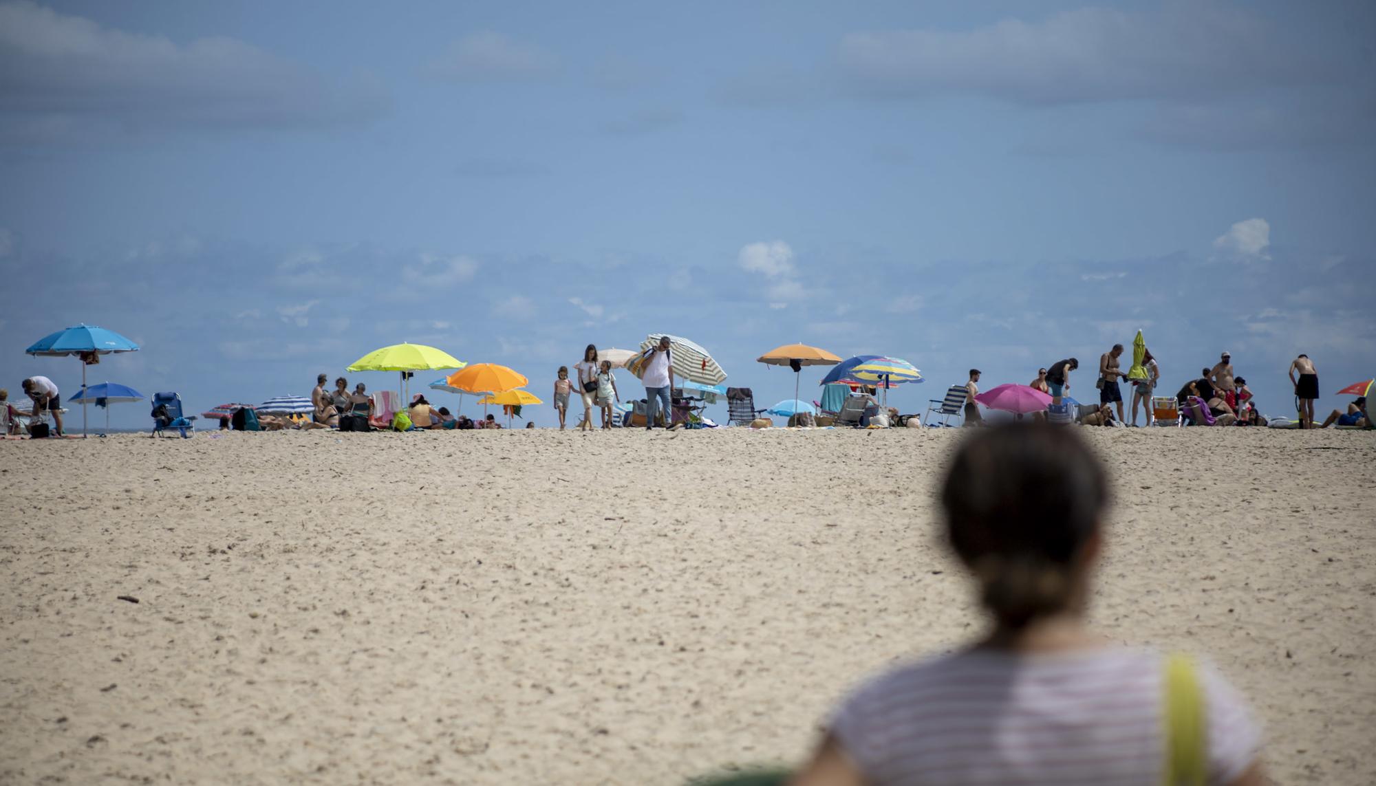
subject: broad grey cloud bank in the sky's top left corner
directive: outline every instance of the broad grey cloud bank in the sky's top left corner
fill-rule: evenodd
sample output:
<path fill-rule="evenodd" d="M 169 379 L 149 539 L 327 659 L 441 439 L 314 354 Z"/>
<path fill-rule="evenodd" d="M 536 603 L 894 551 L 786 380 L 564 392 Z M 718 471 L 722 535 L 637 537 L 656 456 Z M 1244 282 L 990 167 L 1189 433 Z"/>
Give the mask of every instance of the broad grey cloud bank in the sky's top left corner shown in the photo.
<path fill-rule="evenodd" d="M 178 44 L 28 0 L 0 5 L 0 93 L 21 121 L 72 135 L 92 118 L 105 129 L 354 121 L 389 100 L 376 80 L 334 82 L 237 38 Z"/>

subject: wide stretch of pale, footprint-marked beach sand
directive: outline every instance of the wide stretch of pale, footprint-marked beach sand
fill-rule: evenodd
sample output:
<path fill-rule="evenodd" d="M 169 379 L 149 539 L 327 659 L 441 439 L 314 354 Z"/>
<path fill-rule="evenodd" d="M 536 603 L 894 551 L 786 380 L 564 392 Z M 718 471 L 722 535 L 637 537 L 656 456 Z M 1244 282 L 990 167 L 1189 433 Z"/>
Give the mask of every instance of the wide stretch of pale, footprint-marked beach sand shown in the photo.
<path fill-rule="evenodd" d="M 1370 433 L 1084 429 L 1093 618 L 1376 782 Z M 681 783 L 976 632 L 956 430 L 0 442 L 0 782 Z M 135 598 L 138 602 L 120 599 Z"/>

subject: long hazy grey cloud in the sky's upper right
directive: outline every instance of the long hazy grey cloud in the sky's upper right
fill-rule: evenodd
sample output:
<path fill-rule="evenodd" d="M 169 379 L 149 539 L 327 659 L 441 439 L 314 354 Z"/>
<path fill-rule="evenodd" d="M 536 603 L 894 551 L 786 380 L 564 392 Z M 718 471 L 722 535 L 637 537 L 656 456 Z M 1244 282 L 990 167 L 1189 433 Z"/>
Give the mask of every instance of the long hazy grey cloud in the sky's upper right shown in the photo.
<path fill-rule="evenodd" d="M 1278 47 L 1256 15 L 1192 3 L 1149 15 L 1077 8 L 973 30 L 850 33 L 838 56 L 867 92 L 1031 103 L 1194 99 L 1343 78 L 1299 52 Z"/>

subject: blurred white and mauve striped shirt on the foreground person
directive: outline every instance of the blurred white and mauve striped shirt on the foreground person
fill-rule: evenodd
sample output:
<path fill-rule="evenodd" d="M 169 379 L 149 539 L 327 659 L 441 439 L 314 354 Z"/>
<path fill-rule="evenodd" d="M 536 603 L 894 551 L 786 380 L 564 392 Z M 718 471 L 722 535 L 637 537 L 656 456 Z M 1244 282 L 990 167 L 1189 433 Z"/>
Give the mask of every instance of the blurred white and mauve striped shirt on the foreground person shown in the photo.
<path fill-rule="evenodd" d="M 1165 658 L 1108 647 L 1066 654 L 962 651 L 864 683 L 830 721 L 870 783 L 1160 783 Z M 1198 665 L 1210 783 L 1260 748 L 1237 691 Z"/>

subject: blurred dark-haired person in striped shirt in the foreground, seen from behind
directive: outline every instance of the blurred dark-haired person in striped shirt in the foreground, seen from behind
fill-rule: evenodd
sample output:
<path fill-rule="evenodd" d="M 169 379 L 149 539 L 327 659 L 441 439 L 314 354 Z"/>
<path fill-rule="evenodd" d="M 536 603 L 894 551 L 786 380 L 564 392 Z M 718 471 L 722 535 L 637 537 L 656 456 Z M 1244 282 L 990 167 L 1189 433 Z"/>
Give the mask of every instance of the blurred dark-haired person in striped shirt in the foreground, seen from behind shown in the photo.
<path fill-rule="evenodd" d="M 1087 625 L 1110 532 L 1105 466 L 1075 429 L 962 441 L 940 496 L 945 537 L 992 624 L 852 691 L 794 786 L 1266 782 L 1260 730 L 1212 665 Z M 1167 720 L 1175 702 L 1203 705 L 1200 726 Z M 1187 771 L 1165 770 L 1171 739 L 1201 749 Z"/>

